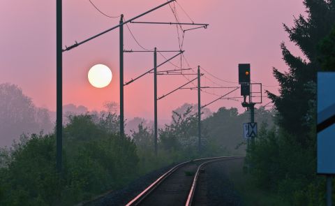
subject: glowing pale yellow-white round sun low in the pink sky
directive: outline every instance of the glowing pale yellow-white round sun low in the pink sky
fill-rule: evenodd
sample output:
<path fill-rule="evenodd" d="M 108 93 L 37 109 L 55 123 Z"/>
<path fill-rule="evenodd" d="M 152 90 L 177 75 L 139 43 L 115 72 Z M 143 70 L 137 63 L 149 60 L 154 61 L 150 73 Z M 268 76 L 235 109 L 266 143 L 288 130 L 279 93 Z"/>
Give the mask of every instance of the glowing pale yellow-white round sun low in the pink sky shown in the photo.
<path fill-rule="evenodd" d="M 87 77 L 89 78 L 89 83 L 93 87 L 103 88 L 110 84 L 113 75 L 108 66 L 96 64 L 89 69 Z"/>

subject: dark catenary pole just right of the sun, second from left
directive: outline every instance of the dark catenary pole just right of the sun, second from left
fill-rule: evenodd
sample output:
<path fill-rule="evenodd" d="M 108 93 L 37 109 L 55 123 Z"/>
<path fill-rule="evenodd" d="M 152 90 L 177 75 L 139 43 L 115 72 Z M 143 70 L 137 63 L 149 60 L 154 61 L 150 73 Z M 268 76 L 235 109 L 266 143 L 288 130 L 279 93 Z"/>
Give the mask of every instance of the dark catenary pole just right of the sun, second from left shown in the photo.
<path fill-rule="evenodd" d="M 120 17 L 120 135 L 124 136 L 124 15 Z"/>

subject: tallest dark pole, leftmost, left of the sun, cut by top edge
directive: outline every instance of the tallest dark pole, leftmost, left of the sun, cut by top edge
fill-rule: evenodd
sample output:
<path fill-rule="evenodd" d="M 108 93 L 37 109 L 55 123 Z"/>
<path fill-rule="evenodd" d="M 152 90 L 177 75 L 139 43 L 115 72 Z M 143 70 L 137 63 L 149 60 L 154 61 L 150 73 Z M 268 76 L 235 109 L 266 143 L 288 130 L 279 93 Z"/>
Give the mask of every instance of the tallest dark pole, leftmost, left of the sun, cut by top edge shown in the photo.
<path fill-rule="evenodd" d="M 57 48 L 56 48 L 56 73 L 57 73 L 57 80 L 56 80 L 56 89 L 57 89 L 57 115 L 56 115 L 56 136 L 57 136 L 57 171 L 61 172 L 61 151 L 62 151 L 62 138 L 63 138 L 63 87 L 62 87 L 62 66 L 63 66 L 63 59 L 62 59 L 62 0 L 57 0 L 57 6 L 56 6 L 56 13 L 57 13 L 57 22 L 56 22 L 56 34 L 57 34 Z"/>

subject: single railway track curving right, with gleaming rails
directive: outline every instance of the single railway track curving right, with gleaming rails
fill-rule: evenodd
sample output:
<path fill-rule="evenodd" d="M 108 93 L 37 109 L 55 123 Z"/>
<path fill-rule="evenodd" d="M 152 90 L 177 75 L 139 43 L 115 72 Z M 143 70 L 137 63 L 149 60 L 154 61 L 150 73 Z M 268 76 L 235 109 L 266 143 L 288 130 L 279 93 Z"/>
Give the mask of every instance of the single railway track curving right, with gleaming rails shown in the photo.
<path fill-rule="evenodd" d="M 180 163 L 165 172 L 126 205 L 191 206 L 193 205 L 198 178 L 204 166 L 216 161 L 243 158 L 244 156 L 221 156 Z"/>

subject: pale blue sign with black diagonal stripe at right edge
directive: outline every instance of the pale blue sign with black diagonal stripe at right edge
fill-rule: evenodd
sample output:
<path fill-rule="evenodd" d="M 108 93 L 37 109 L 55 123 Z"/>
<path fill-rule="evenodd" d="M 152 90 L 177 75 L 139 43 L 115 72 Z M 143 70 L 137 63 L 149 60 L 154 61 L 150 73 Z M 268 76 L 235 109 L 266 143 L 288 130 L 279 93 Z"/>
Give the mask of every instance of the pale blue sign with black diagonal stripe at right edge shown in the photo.
<path fill-rule="evenodd" d="M 335 72 L 318 73 L 318 174 L 335 174 Z"/>

